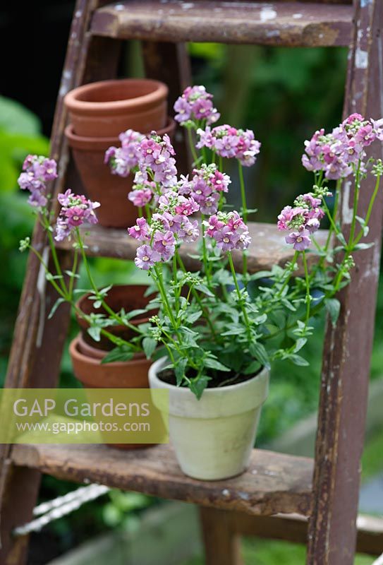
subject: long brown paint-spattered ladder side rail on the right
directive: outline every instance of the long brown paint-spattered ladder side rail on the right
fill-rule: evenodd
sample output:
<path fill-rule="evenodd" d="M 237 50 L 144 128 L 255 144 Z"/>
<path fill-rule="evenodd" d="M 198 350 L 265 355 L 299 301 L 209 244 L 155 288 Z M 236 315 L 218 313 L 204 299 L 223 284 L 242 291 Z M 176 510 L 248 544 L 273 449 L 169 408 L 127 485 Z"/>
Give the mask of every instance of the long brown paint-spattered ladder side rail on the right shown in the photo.
<path fill-rule="evenodd" d="M 357 24 L 348 66 L 345 115 L 360 112 L 367 117 L 381 117 L 383 114 L 382 21 L 381 1 L 356 2 Z M 379 145 L 372 145 L 372 150 L 375 157 L 382 157 Z M 375 179 L 371 179 L 363 185 L 359 215 L 365 215 L 374 184 Z M 350 184 L 346 182 L 341 206 L 345 230 L 349 229 L 352 199 Z M 367 242 L 375 242 L 375 246 L 355 253 L 352 283 L 340 296 L 339 321 L 336 328 L 327 326 L 309 528 L 310 565 L 353 563 L 382 215 L 380 192 L 370 220 L 370 233 L 365 238 Z"/>

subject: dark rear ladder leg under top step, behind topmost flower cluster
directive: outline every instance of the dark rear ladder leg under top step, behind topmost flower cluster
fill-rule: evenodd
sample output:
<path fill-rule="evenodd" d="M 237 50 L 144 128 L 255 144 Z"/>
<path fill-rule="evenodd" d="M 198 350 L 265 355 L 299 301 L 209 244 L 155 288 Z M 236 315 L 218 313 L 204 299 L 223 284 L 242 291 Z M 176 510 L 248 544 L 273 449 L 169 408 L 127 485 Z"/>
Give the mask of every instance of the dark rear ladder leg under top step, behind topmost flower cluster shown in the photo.
<path fill-rule="evenodd" d="M 163 81 L 169 86 L 169 115 L 173 115 L 174 102 L 187 86 L 193 84 L 186 44 L 145 41 L 142 42 L 142 54 L 146 76 Z M 178 124 L 173 144 L 177 154 L 178 172 L 188 174 L 192 158 L 186 131 Z"/>

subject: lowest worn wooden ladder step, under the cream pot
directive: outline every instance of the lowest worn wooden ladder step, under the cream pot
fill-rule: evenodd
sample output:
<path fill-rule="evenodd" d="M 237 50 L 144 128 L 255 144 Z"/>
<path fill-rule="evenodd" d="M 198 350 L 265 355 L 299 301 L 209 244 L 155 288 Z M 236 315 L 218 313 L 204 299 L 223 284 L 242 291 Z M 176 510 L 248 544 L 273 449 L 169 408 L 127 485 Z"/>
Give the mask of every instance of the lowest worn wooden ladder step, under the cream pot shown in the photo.
<path fill-rule="evenodd" d="M 254 515 L 310 512 L 312 460 L 262 449 L 253 450 L 243 475 L 224 481 L 186 477 L 169 445 L 122 451 L 96 444 L 20 444 L 13 446 L 11 458 L 61 480 L 97 482 L 201 506 Z"/>

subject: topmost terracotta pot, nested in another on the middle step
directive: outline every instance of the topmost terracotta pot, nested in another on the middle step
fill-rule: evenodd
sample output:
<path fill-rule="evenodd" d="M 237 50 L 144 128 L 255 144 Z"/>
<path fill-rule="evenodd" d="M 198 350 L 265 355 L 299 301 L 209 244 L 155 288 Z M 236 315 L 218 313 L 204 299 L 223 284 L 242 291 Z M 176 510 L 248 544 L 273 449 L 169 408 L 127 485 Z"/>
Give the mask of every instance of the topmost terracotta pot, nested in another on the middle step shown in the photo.
<path fill-rule="evenodd" d="M 76 135 L 114 137 L 121 131 L 152 131 L 166 124 L 168 87 L 147 78 L 85 84 L 68 92 L 68 108 Z"/>

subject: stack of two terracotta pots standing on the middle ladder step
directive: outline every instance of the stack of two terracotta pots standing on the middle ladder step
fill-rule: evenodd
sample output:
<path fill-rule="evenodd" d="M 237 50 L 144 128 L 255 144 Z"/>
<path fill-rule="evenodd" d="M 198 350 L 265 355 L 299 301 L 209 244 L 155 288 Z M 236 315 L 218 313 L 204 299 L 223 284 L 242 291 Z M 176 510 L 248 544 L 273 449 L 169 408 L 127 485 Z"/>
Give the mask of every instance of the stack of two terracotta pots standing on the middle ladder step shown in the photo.
<path fill-rule="evenodd" d="M 128 201 L 133 176 L 111 174 L 104 154 L 120 145 L 118 135 L 127 129 L 171 134 L 174 121 L 167 118 L 167 95 L 164 83 L 128 78 L 86 84 L 64 98 L 70 118 L 66 138 L 88 198 L 101 203 L 100 225 L 128 227 L 135 222 L 137 208 Z"/>

